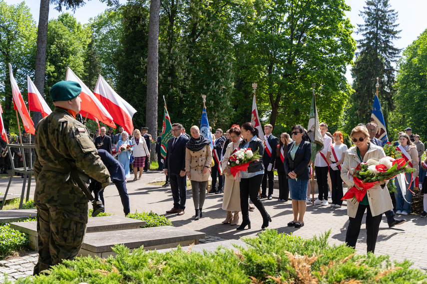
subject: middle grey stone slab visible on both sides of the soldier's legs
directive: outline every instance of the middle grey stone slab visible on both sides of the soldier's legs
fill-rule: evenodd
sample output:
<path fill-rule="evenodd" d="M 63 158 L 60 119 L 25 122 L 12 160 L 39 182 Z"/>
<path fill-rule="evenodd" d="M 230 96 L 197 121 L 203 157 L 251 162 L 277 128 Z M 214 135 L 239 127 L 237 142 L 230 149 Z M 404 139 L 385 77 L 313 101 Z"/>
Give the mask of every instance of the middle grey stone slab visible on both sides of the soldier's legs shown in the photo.
<path fill-rule="evenodd" d="M 87 233 L 106 232 L 107 234 L 112 234 L 110 231 L 126 231 L 143 226 L 145 226 L 145 221 L 136 220 L 132 218 L 118 216 L 92 217 L 89 218 L 87 222 L 86 236 Z M 30 242 L 29 247 L 33 250 L 38 250 L 37 221 L 10 223 L 10 228 L 27 234 Z"/>

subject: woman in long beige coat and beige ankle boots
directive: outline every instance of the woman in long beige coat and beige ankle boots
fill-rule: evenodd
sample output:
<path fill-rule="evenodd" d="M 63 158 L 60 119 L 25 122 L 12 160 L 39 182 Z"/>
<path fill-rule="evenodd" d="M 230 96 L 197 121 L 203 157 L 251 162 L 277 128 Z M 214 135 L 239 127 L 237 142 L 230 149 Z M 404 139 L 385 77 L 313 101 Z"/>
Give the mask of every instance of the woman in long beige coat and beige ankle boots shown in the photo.
<path fill-rule="evenodd" d="M 231 223 L 231 225 L 237 225 L 237 223 L 239 223 L 240 211 L 240 182 L 234 180 L 233 175 L 230 173 L 230 168 L 227 167 L 227 162 L 228 157 L 233 152 L 233 150 L 235 148 L 239 148 L 240 142 L 242 141 L 242 138 L 240 138 L 242 131 L 240 130 L 239 126 L 232 126 L 229 134 L 231 142 L 228 144 L 221 162 L 222 171 L 225 175 L 222 209 L 227 210 L 227 217 L 222 223 Z M 232 211 L 234 211 L 234 218 Z"/>

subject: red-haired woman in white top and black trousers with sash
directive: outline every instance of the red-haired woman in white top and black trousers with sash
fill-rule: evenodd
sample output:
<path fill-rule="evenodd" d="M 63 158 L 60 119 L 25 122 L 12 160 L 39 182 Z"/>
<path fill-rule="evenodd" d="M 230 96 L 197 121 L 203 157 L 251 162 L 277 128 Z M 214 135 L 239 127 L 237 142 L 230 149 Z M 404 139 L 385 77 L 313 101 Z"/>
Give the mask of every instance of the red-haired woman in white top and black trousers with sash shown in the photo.
<path fill-rule="evenodd" d="M 344 137 L 341 131 L 334 133 L 334 142 L 329 145 L 326 159 L 329 163 L 329 175 L 331 176 L 331 192 L 332 192 L 332 204 L 331 207 L 340 208 L 343 204 L 344 192 L 343 192 L 343 180 L 341 179 L 341 167 L 346 156 L 347 145 L 344 144 Z"/>

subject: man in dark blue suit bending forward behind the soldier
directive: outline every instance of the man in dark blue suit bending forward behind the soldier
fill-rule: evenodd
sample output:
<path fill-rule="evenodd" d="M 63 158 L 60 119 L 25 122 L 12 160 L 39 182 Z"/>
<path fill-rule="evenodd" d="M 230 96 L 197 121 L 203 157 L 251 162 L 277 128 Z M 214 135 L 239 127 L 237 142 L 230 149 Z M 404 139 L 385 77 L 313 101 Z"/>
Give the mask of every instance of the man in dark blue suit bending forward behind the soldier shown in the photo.
<path fill-rule="evenodd" d="M 121 204 L 123 205 L 123 213 L 124 216 L 126 216 L 130 212 L 130 206 L 129 195 L 127 195 L 125 181 L 126 174 L 124 173 L 123 165 L 105 150 L 99 149 L 98 155 L 101 157 L 102 162 L 107 167 L 112 182 L 117 187 L 117 191 L 119 192 L 121 199 Z M 105 205 L 103 191 L 99 192 L 99 197 L 101 198 L 102 204 Z"/>

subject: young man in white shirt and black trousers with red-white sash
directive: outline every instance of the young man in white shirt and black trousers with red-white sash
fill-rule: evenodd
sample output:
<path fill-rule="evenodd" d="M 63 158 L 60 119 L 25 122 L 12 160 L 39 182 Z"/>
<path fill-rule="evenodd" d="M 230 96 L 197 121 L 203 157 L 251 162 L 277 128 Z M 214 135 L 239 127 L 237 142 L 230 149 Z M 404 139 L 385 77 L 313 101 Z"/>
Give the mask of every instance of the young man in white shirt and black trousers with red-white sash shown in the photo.
<path fill-rule="evenodd" d="M 319 188 L 319 197 L 314 204 L 328 205 L 328 171 L 329 164 L 326 160 L 326 154 L 328 152 L 329 145 L 332 144 L 332 139 L 326 135 L 328 131 L 328 125 L 324 122 L 319 124 L 320 133 L 323 136 L 323 148 L 317 152 L 316 159 L 314 160 L 314 166 L 316 171 L 317 186 Z"/>

